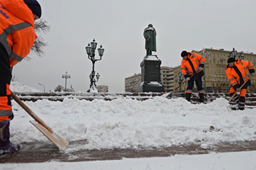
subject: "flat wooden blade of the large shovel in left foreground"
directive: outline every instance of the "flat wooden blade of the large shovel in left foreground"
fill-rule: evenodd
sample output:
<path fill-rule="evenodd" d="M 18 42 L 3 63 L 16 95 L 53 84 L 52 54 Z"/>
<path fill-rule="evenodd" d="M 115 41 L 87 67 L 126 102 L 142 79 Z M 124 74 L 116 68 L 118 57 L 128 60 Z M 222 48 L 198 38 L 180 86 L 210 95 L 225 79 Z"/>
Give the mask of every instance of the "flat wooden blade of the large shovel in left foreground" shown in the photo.
<path fill-rule="evenodd" d="M 44 134 L 52 143 L 54 143 L 59 148 L 59 150 L 64 151 L 67 148 L 68 142 L 61 138 L 59 135 L 54 132 L 49 132 L 43 125 L 41 125 L 37 121 L 30 120 L 30 123 L 32 123 L 40 132 L 42 132 L 42 134 Z"/>

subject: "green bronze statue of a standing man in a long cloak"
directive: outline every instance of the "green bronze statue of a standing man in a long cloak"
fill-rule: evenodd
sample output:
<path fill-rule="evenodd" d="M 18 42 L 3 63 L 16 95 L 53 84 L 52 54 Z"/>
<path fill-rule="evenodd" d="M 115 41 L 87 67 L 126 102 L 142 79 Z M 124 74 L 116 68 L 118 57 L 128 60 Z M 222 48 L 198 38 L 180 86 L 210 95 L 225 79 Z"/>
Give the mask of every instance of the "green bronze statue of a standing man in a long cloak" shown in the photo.
<path fill-rule="evenodd" d="M 155 28 L 153 28 L 152 24 L 148 24 L 148 27 L 144 29 L 143 35 L 146 40 L 145 49 L 147 50 L 147 55 L 151 55 L 152 51 L 157 51 L 157 32 L 155 31 Z"/>

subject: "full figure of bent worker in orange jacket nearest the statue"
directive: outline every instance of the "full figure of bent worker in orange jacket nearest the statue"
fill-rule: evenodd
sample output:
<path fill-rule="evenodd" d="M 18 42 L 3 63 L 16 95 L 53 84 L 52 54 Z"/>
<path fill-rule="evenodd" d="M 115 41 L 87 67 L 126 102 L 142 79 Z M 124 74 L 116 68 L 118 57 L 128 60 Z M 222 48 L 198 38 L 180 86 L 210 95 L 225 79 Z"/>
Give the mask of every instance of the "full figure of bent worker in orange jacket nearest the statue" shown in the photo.
<path fill-rule="evenodd" d="M 200 102 L 204 101 L 204 90 L 203 90 L 203 83 L 202 83 L 202 76 L 204 75 L 203 67 L 205 63 L 205 58 L 196 53 L 191 53 L 187 51 L 181 52 L 181 73 L 188 81 L 186 93 L 186 99 L 190 101 L 194 81 L 196 82 L 197 91 L 199 92 L 199 99 Z"/>

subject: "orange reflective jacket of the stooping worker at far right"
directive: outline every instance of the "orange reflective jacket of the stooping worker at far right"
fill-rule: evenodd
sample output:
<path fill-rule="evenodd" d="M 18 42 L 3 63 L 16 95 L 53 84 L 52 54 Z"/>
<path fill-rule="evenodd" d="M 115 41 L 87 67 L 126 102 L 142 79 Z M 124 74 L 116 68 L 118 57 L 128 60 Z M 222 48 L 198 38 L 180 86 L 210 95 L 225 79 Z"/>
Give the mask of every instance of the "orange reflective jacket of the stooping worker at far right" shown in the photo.
<path fill-rule="evenodd" d="M 234 89 L 237 89 L 249 77 L 249 73 L 254 73 L 254 67 L 251 61 L 236 59 L 234 66 L 226 66 L 226 75 Z M 241 83 L 242 82 L 242 83 Z M 250 84 L 248 84 L 250 85 Z"/>

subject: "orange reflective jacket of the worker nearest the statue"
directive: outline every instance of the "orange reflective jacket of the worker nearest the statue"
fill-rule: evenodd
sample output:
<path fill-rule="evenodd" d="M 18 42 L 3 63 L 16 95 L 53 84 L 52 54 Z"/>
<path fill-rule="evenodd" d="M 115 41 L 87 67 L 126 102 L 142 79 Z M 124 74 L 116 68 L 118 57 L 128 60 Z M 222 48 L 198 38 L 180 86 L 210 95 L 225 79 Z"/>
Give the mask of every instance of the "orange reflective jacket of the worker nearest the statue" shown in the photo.
<path fill-rule="evenodd" d="M 181 73 L 185 78 L 192 76 L 199 71 L 199 67 L 204 67 L 204 63 L 205 58 L 202 55 L 188 52 L 188 59 L 181 61 Z"/>

